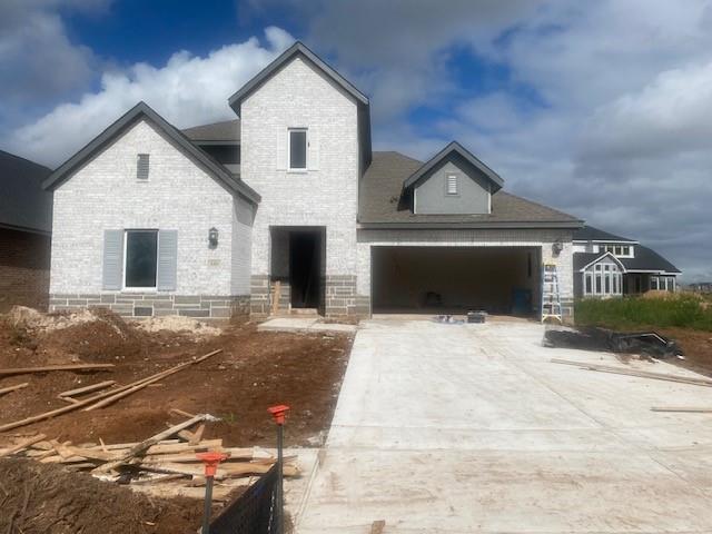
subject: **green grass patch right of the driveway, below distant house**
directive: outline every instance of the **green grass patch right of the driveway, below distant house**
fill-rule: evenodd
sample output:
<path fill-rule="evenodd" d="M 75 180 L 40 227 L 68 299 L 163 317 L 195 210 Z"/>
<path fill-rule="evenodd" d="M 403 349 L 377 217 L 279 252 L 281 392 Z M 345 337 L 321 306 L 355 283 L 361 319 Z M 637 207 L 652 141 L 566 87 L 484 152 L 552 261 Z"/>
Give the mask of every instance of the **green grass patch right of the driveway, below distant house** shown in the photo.
<path fill-rule="evenodd" d="M 712 306 L 690 294 L 668 298 L 625 297 L 576 300 L 576 324 L 613 329 L 681 327 L 712 332 Z"/>

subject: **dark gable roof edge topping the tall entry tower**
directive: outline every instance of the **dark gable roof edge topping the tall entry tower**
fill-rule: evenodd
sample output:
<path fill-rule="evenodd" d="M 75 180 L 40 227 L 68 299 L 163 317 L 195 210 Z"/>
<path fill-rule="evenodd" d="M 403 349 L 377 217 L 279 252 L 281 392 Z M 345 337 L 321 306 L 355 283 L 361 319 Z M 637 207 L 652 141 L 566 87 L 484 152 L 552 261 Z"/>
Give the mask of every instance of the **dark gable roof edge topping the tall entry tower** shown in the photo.
<path fill-rule="evenodd" d="M 285 65 L 289 63 L 294 58 L 300 57 L 320 70 L 326 77 L 332 79 L 336 85 L 338 85 L 342 89 L 344 89 L 348 95 L 354 97 L 357 102 L 363 106 L 368 106 L 368 98 L 360 92 L 354 85 L 339 75 L 332 67 L 326 65 L 316 53 L 309 50 L 303 42 L 297 41 L 287 50 L 281 52 L 277 59 L 275 59 L 271 63 L 265 67 L 261 71 L 259 71 L 251 80 L 245 83 L 235 95 L 233 95 L 228 99 L 228 103 L 230 108 L 235 110 L 235 112 L 240 115 L 240 106 L 243 105 L 243 100 L 245 100 L 249 95 L 251 95 L 255 90 L 261 87 L 274 73 L 276 73 L 279 69 L 281 69 Z"/>

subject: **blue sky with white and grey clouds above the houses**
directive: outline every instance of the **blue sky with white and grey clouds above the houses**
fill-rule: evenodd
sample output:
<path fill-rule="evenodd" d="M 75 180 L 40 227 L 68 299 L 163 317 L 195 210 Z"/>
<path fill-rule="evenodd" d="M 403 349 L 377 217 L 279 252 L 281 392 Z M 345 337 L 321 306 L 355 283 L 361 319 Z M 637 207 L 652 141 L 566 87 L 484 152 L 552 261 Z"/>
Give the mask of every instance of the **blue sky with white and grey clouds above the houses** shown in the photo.
<path fill-rule="evenodd" d="M 0 148 L 55 167 L 138 100 L 231 118 L 294 39 L 370 97 L 376 149 L 457 139 L 712 279 L 712 0 L 1 0 Z"/>

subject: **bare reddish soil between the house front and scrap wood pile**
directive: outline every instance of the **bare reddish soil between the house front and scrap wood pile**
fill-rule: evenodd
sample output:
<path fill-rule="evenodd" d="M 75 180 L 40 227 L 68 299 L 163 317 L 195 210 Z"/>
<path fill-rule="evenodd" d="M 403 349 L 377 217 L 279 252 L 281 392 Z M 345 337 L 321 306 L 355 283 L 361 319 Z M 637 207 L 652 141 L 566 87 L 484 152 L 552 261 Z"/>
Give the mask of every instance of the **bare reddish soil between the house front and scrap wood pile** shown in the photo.
<path fill-rule="evenodd" d="M 62 363 L 112 363 L 111 372 L 18 375 L 0 387 L 29 382 L 29 387 L 0 396 L 0 424 L 63 406 L 60 392 L 113 379 L 128 384 L 194 356 L 222 353 L 177 373 L 103 409 L 71 412 L 11 431 L 42 432 L 61 441 L 107 443 L 144 439 L 176 421 L 170 408 L 209 413 L 205 437 L 226 446 L 275 445 L 267 407 L 291 407 L 285 429 L 287 446 L 314 445 L 330 424 L 348 360 L 352 336 L 257 332 L 255 324 L 229 325 L 221 335 L 196 339 L 187 334 L 147 333 L 108 312 L 109 320 L 81 323 L 47 334 L 32 334 L 0 322 L 0 368 Z M 313 438 L 313 439 L 309 439 Z"/>

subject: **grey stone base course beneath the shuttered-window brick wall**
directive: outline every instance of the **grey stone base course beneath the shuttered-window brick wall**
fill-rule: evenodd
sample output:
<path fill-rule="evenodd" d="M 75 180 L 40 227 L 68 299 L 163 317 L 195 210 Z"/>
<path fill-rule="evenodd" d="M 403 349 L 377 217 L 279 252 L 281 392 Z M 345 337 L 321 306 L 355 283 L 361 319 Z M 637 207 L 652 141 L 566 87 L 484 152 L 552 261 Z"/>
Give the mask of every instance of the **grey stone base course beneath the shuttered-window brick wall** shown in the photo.
<path fill-rule="evenodd" d="M 121 317 L 182 315 L 207 319 L 247 316 L 249 295 L 166 295 L 160 293 L 51 294 L 49 310 L 75 312 L 102 307 Z"/>

